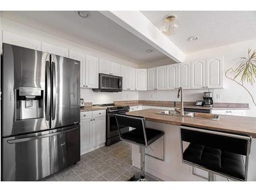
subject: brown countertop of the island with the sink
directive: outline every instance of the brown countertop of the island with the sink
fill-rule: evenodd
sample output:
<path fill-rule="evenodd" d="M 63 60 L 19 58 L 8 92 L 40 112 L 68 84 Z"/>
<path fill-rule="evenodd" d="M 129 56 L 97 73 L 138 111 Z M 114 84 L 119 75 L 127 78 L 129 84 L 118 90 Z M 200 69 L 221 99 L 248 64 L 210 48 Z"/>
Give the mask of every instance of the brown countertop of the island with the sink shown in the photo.
<path fill-rule="evenodd" d="M 191 117 L 170 116 L 155 114 L 162 110 L 146 109 L 140 111 L 129 112 L 127 115 L 135 115 L 145 117 L 148 121 L 173 125 L 188 125 L 199 128 L 227 131 L 234 133 L 245 133 L 256 138 L 256 117 L 243 117 L 232 115 L 221 115 L 220 120 L 196 119 Z"/>

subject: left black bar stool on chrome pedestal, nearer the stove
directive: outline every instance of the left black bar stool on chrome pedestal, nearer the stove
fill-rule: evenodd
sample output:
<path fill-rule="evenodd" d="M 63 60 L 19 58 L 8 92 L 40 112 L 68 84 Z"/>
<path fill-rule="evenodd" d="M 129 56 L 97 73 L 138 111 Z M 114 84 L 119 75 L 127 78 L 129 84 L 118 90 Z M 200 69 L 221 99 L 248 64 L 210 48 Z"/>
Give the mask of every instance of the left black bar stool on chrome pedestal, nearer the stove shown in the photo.
<path fill-rule="evenodd" d="M 116 114 L 120 139 L 139 145 L 140 147 L 140 178 L 133 176 L 129 181 L 145 180 L 145 148 L 164 136 L 164 132 L 146 128 L 145 118 Z M 124 128 L 129 127 L 129 129 Z"/>

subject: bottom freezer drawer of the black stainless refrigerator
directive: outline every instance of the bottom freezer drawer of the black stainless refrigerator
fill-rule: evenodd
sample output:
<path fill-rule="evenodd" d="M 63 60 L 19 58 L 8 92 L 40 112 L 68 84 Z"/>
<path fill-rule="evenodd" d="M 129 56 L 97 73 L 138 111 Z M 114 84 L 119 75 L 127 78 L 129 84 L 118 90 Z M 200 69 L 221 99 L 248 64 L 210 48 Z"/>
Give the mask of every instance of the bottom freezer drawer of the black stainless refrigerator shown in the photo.
<path fill-rule="evenodd" d="M 3 181 L 36 181 L 80 160 L 80 127 L 2 139 Z"/>

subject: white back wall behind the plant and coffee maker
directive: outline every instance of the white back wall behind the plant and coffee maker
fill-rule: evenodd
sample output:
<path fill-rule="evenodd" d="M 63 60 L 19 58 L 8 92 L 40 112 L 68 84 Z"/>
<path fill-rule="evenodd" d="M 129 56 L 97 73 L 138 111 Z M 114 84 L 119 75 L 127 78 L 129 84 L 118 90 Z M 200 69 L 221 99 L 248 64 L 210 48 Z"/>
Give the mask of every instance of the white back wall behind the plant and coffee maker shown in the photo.
<path fill-rule="evenodd" d="M 217 47 L 214 49 L 203 50 L 199 52 L 186 54 L 185 61 L 190 61 L 199 58 L 206 58 L 218 55 L 224 55 L 224 73 L 231 66 L 235 65 L 238 60 L 233 60 L 238 57 L 247 56 L 248 48 L 256 49 L 256 39 L 238 42 L 227 46 Z M 252 103 L 249 94 L 235 82 L 227 79 L 223 74 L 224 89 L 210 90 L 214 91 L 215 102 L 234 102 L 234 103 L 249 103 L 250 110 L 246 110 L 246 116 L 256 117 L 256 106 Z M 247 86 L 256 99 L 256 86 Z M 202 93 L 206 90 L 184 90 L 185 101 L 202 100 Z M 217 99 L 217 94 L 221 94 L 221 99 Z M 153 96 L 153 98 L 152 98 Z M 177 101 L 177 91 L 143 91 L 139 92 L 140 100 L 170 100 Z"/>

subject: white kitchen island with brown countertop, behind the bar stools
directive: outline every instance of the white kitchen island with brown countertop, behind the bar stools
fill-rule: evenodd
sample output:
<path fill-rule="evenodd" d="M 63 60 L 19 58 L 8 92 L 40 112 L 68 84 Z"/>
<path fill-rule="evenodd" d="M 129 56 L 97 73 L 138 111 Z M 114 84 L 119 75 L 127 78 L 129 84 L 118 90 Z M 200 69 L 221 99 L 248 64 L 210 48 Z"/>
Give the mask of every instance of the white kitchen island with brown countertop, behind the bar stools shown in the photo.
<path fill-rule="evenodd" d="M 213 131 L 245 133 L 250 135 L 252 141 L 249 155 L 248 181 L 256 181 L 256 170 L 254 168 L 256 165 L 256 118 L 221 115 L 220 120 L 217 121 L 156 114 L 161 111 L 163 110 L 147 109 L 127 113 L 127 115 L 145 117 L 148 128 L 160 130 L 165 133 L 164 161 L 146 156 L 146 172 L 165 181 L 205 181 L 200 177 L 194 176 L 192 174 L 192 167 L 183 164 L 181 161 L 179 126 L 186 125 Z M 153 148 L 155 151 L 161 151 L 160 146 Z M 132 146 L 132 160 L 133 165 L 140 168 L 139 147 L 137 145 Z M 203 177 L 207 177 L 207 172 L 204 170 L 195 168 L 195 172 Z M 227 179 L 217 176 L 217 181 L 227 181 Z"/>

